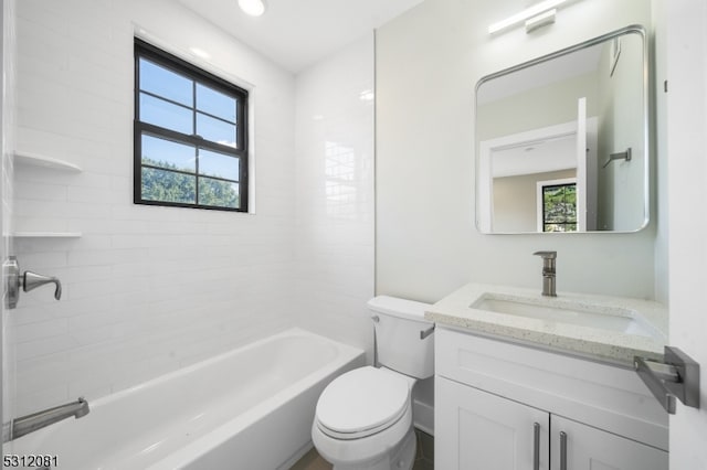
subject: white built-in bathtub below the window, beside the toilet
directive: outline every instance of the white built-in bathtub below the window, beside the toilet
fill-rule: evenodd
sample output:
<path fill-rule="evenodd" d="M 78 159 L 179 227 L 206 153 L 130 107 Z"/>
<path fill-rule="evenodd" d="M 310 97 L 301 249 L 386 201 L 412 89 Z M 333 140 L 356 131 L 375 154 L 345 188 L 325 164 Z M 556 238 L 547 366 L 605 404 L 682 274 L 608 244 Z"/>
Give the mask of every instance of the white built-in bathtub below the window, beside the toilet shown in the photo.
<path fill-rule="evenodd" d="M 288 469 L 312 446 L 314 409 L 362 350 L 293 329 L 89 403 L 6 445 L 66 470 Z"/>

